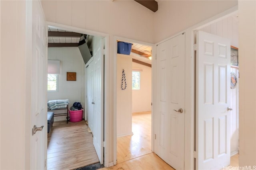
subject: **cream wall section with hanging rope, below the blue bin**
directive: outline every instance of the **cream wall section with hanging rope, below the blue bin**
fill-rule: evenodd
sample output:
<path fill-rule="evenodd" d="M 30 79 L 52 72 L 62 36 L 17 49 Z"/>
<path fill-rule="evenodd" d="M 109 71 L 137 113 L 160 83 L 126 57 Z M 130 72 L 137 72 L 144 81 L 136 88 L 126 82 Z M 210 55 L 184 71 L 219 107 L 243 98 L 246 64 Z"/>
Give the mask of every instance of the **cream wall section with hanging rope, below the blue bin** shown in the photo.
<path fill-rule="evenodd" d="M 132 58 L 128 55 L 117 54 L 117 136 L 132 134 Z M 127 88 L 121 89 L 122 70 L 125 71 Z"/>

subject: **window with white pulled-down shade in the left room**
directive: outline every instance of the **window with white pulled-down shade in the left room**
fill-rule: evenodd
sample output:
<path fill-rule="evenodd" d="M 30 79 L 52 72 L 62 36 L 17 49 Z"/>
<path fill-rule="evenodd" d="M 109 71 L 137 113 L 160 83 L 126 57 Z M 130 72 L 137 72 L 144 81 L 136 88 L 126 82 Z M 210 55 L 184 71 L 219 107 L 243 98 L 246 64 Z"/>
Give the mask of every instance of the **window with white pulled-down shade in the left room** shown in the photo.
<path fill-rule="evenodd" d="M 58 74 L 60 74 L 60 61 L 48 60 L 47 90 L 58 90 Z"/>

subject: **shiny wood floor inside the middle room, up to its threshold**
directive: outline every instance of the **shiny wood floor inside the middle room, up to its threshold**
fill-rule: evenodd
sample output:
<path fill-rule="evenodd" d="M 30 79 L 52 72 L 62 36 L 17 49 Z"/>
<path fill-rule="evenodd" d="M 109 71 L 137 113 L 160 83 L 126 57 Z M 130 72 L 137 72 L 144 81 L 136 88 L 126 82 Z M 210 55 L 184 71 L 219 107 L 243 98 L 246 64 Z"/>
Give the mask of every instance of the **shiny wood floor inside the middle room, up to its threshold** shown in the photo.
<path fill-rule="evenodd" d="M 151 153 L 151 111 L 132 114 L 133 135 L 117 138 L 117 163 Z"/>

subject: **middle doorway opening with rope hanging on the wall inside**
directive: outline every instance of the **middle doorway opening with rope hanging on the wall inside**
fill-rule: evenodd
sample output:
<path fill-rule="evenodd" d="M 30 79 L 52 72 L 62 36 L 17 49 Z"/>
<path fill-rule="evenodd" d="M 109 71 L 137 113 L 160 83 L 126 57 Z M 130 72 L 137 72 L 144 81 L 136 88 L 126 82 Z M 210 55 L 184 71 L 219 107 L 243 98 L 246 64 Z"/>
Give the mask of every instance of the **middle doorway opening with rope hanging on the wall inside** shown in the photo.
<path fill-rule="evenodd" d="M 117 164 L 152 153 L 152 46 L 125 42 L 130 55 L 116 55 Z"/>

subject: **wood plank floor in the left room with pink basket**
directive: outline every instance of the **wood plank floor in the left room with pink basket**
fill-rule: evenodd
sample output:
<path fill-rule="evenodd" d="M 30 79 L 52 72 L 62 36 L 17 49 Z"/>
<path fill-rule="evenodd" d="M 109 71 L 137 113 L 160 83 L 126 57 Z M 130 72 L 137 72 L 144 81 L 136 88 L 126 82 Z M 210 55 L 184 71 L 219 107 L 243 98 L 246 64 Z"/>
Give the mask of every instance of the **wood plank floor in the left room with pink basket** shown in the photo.
<path fill-rule="evenodd" d="M 99 162 L 85 121 L 55 121 L 48 134 L 47 169 L 75 169 Z"/>

